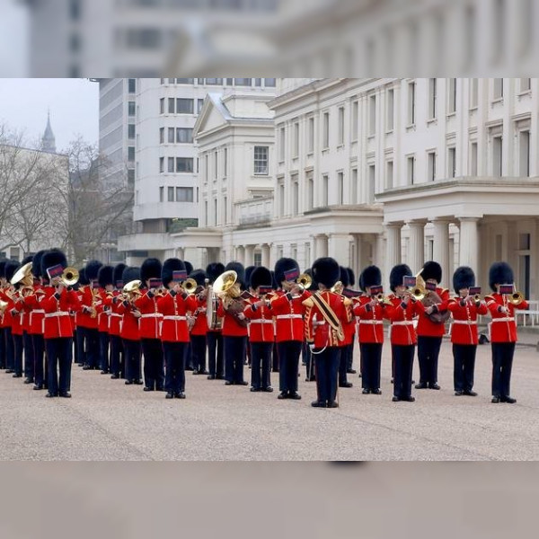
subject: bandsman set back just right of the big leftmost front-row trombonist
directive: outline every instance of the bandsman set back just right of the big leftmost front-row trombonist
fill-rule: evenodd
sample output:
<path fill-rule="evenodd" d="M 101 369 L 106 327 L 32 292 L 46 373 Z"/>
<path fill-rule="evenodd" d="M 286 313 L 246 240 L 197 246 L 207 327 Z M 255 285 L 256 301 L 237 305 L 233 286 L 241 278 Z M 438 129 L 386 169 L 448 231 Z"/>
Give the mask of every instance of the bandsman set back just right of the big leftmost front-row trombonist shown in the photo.
<path fill-rule="evenodd" d="M 102 267 L 100 261 L 88 261 L 85 266 L 85 275 L 88 286 L 84 287 L 81 297 L 83 310 L 78 316 L 79 324 L 84 327 L 84 350 L 86 351 L 86 365 L 84 370 L 99 368 L 99 331 L 97 328 L 97 310 L 94 305 L 97 301 L 98 285 L 97 273 Z"/>

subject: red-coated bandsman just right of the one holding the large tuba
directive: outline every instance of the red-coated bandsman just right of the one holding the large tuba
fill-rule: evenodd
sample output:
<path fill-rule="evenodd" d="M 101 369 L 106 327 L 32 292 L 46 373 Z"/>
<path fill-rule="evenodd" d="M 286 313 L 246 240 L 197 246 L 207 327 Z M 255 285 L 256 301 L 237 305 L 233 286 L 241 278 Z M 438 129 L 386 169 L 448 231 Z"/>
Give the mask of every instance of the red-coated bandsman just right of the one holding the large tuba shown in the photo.
<path fill-rule="evenodd" d="M 273 329 L 273 313 L 270 299 L 271 273 L 268 268 L 259 266 L 252 270 L 251 287 L 258 299 L 247 305 L 243 314 L 249 324 L 249 343 L 251 346 L 251 391 L 271 393 L 271 351 L 275 334 Z"/>

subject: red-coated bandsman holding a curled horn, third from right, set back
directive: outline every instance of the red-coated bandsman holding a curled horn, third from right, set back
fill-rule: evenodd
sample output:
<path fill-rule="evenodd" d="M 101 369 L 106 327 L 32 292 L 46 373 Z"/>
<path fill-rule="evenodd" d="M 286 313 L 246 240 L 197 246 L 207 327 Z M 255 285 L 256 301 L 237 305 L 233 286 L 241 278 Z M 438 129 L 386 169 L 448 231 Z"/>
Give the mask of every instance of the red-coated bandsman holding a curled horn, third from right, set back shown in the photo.
<path fill-rule="evenodd" d="M 436 287 L 433 292 L 427 291 L 427 295 L 437 295 L 441 301 L 438 305 L 430 305 L 420 314 L 418 321 L 418 359 L 420 362 L 420 383 L 416 384 L 416 389 L 440 389 L 437 384 L 437 364 L 442 345 L 442 338 L 446 333 L 444 322 L 433 322 L 430 315 L 443 314 L 447 311 L 449 301 L 449 290 L 438 287 L 442 280 L 442 267 L 435 261 L 425 262 L 423 270 L 420 272 L 421 278 L 426 283 Z"/>

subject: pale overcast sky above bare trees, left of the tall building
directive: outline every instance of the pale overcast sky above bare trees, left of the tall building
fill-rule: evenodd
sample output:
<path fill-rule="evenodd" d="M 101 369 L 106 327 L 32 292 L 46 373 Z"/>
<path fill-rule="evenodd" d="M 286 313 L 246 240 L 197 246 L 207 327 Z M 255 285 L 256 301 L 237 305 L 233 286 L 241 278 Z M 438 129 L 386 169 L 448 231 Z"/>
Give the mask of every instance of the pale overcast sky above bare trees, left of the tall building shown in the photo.
<path fill-rule="evenodd" d="M 23 131 L 29 143 L 43 136 L 48 109 L 57 151 L 78 135 L 97 144 L 99 84 L 86 79 L 0 79 L 0 124 Z"/>

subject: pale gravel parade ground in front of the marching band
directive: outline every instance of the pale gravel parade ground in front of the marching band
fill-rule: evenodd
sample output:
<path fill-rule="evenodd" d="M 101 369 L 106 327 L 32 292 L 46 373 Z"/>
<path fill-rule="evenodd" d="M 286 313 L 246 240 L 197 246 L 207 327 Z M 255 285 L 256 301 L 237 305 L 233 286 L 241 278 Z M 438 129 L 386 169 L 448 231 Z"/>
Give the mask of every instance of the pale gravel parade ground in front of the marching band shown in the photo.
<path fill-rule="evenodd" d="M 536 342 L 536 336 L 525 338 Z M 45 399 L 0 371 L 3 460 L 526 460 L 539 459 L 539 353 L 518 346 L 515 405 L 490 403 L 490 346 L 478 348 L 478 397 L 455 397 L 452 358 L 440 358 L 442 390 L 414 390 L 416 402 L 391 402 L 389 347 L 381 396 L 360 380 L 340 390 L 340 409 L 250 393 L 206 376 L 187 378 L 187 399 L 165 400 L 98 371 L 74 366 L 72 399 Z M 358 363 L 358 358 L 356 358 Z M 247 367 L 246 367 L 247 368 Z M 250 371 L 247 369 L 247 376 Z M 273 383 L 278 385 L 276 374 Z M 417 359 L 414 368 L 417 379 Z"/>

